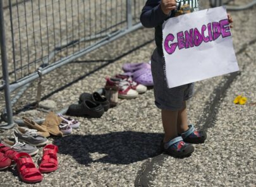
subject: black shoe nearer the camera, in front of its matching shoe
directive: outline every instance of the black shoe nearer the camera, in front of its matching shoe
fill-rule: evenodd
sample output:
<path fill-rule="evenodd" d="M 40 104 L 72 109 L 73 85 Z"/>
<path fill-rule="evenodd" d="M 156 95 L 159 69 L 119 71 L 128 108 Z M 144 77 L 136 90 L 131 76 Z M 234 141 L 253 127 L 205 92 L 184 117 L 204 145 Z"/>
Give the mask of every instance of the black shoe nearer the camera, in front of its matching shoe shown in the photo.
<path fill-rule="evenodd" d="M 88 116 L 90 118 L 101 118 L 103 113 L 102 105 L 90 100 L 83 100 L 81 104 L 71 104 L 67 111 L 67 114 L 71 116 Z"/>

